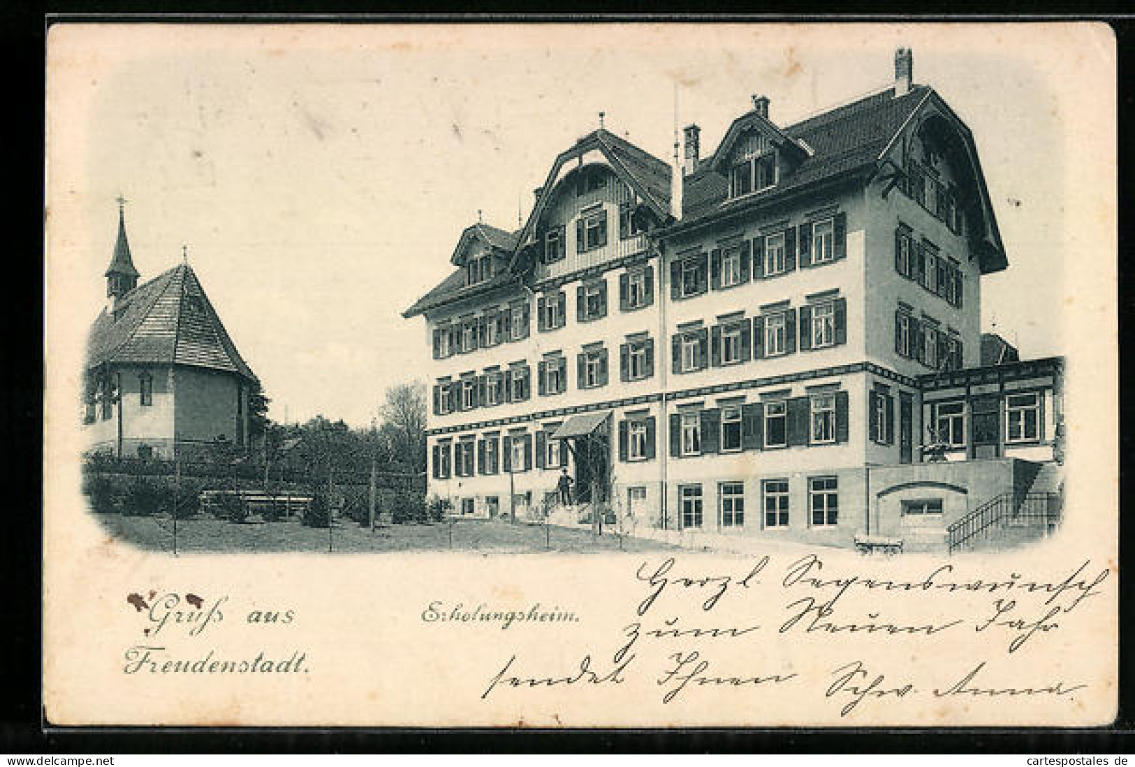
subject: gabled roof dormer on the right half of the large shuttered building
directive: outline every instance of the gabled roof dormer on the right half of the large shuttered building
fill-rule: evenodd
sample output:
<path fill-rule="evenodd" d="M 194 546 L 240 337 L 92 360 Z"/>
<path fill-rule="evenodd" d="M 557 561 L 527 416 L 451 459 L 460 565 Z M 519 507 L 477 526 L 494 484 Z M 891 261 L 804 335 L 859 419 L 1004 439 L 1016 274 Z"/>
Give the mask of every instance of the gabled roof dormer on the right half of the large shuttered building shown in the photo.
<path fill-rule="evenodd" d="M 733 120 L 709 167 L 729 182 L 735 200 L 774 188 L 808 150 L 768 119 L 768 99 L 753 98 L 753 110 Z"/>

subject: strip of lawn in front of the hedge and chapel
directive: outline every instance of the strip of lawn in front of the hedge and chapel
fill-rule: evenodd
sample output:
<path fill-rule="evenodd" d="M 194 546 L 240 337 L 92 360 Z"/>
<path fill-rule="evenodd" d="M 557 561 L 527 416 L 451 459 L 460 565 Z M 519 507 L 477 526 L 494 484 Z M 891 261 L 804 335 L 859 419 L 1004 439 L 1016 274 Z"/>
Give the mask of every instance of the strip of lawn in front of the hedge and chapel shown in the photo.
<path fill-rule="evenodd" d="M 135 546 L 158 551 L 174 550 L 174 521 L 159 516 L 99 514 L 108 532 Z M 452 534 L 452 543 L 451 543 Z M 279 522 L 239 524 L 213 517 L 180 520 L 177 553 L 218 551 L 442 551 L 447 549 L 485 554 L 656 551 L 674 547 L 650 540 L 604 532 L 595 538 L 589 530 L 529 525 L 506 521 L 456 520 L 435 524 L 384 524 L 371 531 L 350 520 L 336 520 L 327 528 L 305 528 L 293 517 Z"/>

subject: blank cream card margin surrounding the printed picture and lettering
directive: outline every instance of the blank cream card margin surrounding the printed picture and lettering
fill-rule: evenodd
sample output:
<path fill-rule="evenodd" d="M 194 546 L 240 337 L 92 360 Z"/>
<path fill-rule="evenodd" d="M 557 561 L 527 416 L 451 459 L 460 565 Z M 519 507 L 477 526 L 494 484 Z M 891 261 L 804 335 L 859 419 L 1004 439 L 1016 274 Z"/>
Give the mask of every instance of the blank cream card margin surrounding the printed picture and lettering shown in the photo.
<path fill-rule="evenodd" d="M 129 30 L 129 44 L 161 44 Z M 809 44 L 825 40 L 840 44 L 852 27 L 808 30 Z M 473 47 L 532 43 L 549 27 L 497 30 L 487 36 L 478 27 L 435 27 L 431 34 L 447 44 Z M 720 27 L 723 39 L 733 32 Z M 1116 101 L 1115 41 L 1104 25 L 876 25 L 877 34 L 896 40 L 939 35 L 957 41 L 959 56 L 968 45 L 1014 50 L 1046 50 L 1053 66 L 1066 125 L 1060 149 L 1066 168 L 1066 214 L 1076 234 L 1065 261 L 1065 300 L 1058 307 L 1068 340 L 1066 408 L 1068 424 L 1068 519 L 1061 533 L 1040 547 L 1000 555 L 997 562 L 967 560 L 970 574 L 1036 571 L 1053 575 L 1066 565 L 1091 557 L 1117 568 L 1118 557 L 1118 352 L 1116 303 Z M 48 77 L 48 211 L 45 258 L 45 444 L 44 444 L 44 701 L 48 722 L 57 725 L 1100 725 L 1108 723 L 1117 700 L 1118 579 L 1107 583 L 1085 620 L 1065 629 L 1062 637 L 1034 655 L 1032 669 L 1065 669 L 1092 680 L 1092 693 L 1076 707 L 1051 700 L 1025 703 L 972 703 L 935 707 L 931 703 L 880 703 L 855 720 L 840 719 L 834 707 L 809 694 L 730 697 L 723 706 L 664 708 L 625 690 L 503 697 L 476 701 L 473 688 L 507 657 L 506 644 L 518 642 L 532 669 L 555 671 L 557 656 L 594 642 L 606 654 L 617 626 L 641 597 L 633 568 L 642 557 L 589 556 L 462 556 L 409 554 L 385 556 L 186 556 L 146 554 L 118 543 L 84 513 L 76 456 L 79 433 L 73 420 L 79 401 L 78 379 L 90 319 L 72 311 L 69 295 L 81 295 L 81 270 L 69 268 L 76 251 L 76 195 L 83 194 L 90 103 L 76 84 L 98 71 L 98 47 L 124 27 L 56 26 L 49 36 Z M 221 27 L 190 26 L 184 33 L 216 42 L 233 34 Z M 388 44 L 412 40 L 412 27 L 347 26 L 259 27 L 259 35 L 286 48 L 293 44 L 346 45 L 358 41 Z M 676 40 L 681 27 L 622 26 L 622 44 L 663 44 Z M 917 42 L 915 43 L 917 45 Z M 743 87 L 743 85 L 741 85 Z M 977 137 L 981 144 L 981 136 Z M 1022 162 L 1043 158 L 1022 158 Z M 1043 247 L 1044 243 L 1036 243 Z M 103 258 L 96 254 L 94 258 Z M 1012 258 L 1028 258 L 1018 252 Z M 1022 286 L 1027 290 L 1027 285 Z M 1043 319 L 1053 307 L 1037 307 Z M 848 553 L 824 553 L 833 568 L 882 572 Z M 680 555 L 687 570 L 726 572 L 742 568 L 737 557 Z M 886 574 L 924 573 L 928 560 L 903 557 Z M 995 572 L 994 572 L 995 571 Z M 124 596 L 144 589 L 194 590 L 229 595 L 251 608 L 288 607 L 296 625 L 270 638 L 249 632 L 225 634 L 226 651 L 236 655 L 261 646 L 305 648 L 314 672 L 302 678 L 124 677 L 121 651 L 137 641 L 137 626 L 123 609 Z M 585 627 L 563 635 L 497 633 L 439 635 L 419 620 L 422 606 L 435 598 L 530 599 L 557 601 L 585 614 Z M 219 640 L 220 641 L 220 640 Z M 842 641 L 842 640 L 840 640 Z M 827 668 L 840 642 L 814 657 L 793 657 L 798 669 Z M 568 648 L 568 649 L 565 649 Z M 791 647 L 773 650 L 791 655 Z M 936 646 L 918 663 L 945 666 L 972 648 Z M 864 649 L 868 660 L 885 659 L 882 648 Z M 915 660 L 911 657 L 911 661 Z M 955 664 L 957 667 L 957 664 Z M 1019 669 L 1019 666 L 1018 666 Z M 1029 681 L 1029 680 L 1023 680 Z M 469 689 L 464 689 L 469 688 Z M 740 702 L 739 702 L 740 701 Z"/>

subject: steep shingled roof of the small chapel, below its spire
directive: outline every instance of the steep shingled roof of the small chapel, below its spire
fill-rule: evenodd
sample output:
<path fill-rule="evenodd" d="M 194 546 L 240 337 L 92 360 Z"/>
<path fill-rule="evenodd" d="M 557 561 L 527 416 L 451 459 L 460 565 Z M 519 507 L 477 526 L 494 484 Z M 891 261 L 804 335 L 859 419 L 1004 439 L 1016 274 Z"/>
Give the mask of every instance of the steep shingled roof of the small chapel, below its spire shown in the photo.
<path fill-rule="evenodd" d="M 87 337 L 86 366 L 106 363 L 192 365 L 257 380 L 187 263 L 127 293 L 115 312 L 103 309 Z"/>

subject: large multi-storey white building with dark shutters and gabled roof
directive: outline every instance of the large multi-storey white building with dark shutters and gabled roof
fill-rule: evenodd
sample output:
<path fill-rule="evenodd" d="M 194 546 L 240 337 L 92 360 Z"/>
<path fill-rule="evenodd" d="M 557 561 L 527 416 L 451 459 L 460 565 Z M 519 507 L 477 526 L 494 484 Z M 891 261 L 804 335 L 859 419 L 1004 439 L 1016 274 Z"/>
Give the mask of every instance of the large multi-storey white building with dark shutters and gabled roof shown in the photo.
<path fill-rule="evenodd" d="M 1054 489 L 1059 360 L 981 368 L 1008 262 L 974 138 L 911 69 L 789 126 L 755 96 L 708 157 L 696 125 L 670 163 L 596 130 L 523 228 L 469 227 L 405 312 L 430 492 L 538 515 L 566 467 L 631 526 L 957 548 Z"/>

